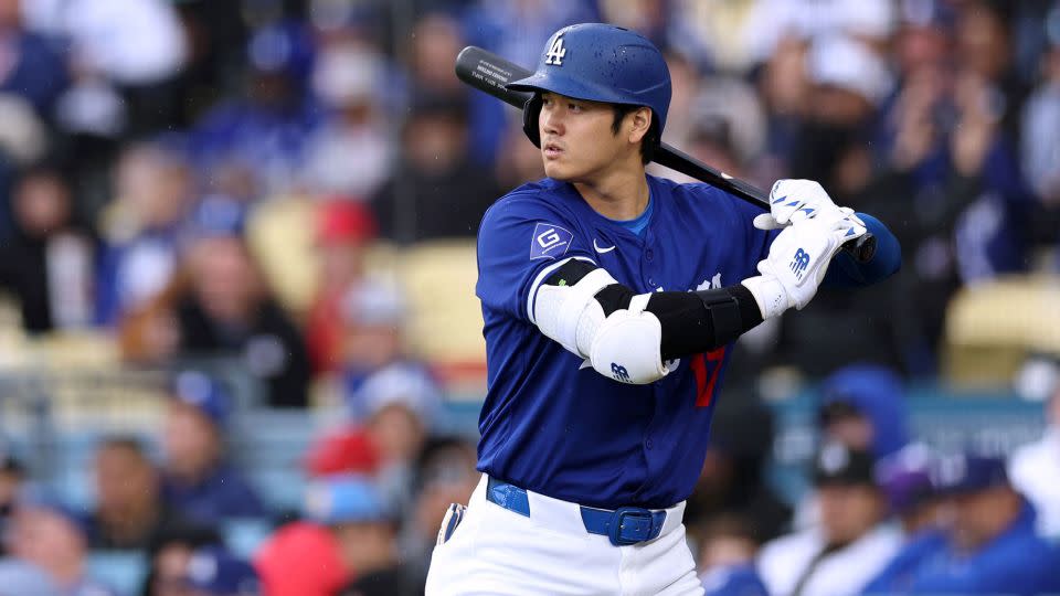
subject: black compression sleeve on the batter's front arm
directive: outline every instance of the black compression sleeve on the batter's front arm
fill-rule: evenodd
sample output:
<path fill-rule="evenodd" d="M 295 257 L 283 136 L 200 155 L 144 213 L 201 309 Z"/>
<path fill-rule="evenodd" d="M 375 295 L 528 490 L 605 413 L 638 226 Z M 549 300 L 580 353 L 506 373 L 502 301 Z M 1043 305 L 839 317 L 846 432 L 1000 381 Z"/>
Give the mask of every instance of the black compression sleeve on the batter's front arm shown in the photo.
<path fill-rule="evenodd" d="M 570 260 L 544 283 L 573 286 L 596 266 Z M 596 292 L 604 315 L 628 308 L 634 291 L 612 284 Z M 662 323 L 662 360 L 717 350 L 762 322 L 762 311 L 751 290 L 740 284 L 700 291 L 657 291 L 645 308 Z"/>

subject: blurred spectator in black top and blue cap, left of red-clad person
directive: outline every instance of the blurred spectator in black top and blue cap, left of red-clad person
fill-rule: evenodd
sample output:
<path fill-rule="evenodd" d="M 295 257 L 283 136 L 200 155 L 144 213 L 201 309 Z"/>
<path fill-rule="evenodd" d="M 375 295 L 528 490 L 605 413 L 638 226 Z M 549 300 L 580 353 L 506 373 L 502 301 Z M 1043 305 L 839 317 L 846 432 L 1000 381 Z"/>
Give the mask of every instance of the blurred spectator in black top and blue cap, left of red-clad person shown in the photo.
<path fill-rule="evenodd" d="M 294 322 L 265 287 L 245 240 L 240 205 L 224 199 L 197 210 L 178 299 L 180 353 L 237 356 L 265 383 L 266 403 L 304 407 L 309 356 Z"/>

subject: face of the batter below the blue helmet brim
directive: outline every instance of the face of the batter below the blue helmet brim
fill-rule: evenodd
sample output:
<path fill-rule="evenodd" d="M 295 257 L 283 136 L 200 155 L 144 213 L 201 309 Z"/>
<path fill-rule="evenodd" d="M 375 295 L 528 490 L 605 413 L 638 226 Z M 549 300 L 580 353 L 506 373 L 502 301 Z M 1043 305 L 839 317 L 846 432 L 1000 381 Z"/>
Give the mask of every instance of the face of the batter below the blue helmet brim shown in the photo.
<path fill-rule="evenodd" d="M 614 166 L 625 145 L 612 130 L 614 117 L 610 104 L 542 94 L 538 127 L 544 173 L 581 182 Z"/>

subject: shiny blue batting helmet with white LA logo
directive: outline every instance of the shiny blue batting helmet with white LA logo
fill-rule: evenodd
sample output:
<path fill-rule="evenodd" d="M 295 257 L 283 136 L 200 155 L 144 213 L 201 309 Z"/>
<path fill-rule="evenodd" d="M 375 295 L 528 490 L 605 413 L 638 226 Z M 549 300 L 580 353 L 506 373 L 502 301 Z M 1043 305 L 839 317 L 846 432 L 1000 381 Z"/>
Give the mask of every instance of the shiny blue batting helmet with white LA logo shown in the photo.
<path fill-rule="evenodd" d="M 670 105 L 670 71 L 662 53 L 639 33 L 604 23 L 565 26 L 549 39 L 532 75 L 507 85 L 534 92 L 523 110 L 523 130 L 540 146 L 541 93 L 575 99 L 647 106 L 661 136 Z"/>

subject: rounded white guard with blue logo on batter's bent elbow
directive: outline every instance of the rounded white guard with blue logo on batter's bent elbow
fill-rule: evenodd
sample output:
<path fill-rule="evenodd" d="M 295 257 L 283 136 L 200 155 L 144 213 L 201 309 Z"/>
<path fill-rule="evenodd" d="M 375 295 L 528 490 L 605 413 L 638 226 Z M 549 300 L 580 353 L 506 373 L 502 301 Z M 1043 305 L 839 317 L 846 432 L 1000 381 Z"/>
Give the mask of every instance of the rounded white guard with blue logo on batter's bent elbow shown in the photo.
<path fill-rule="evenodd" d="M 645 312 L 649 294 L 634 296 L 629 309 L 604 319 L 593 337 L 590 362 L 600 374 L 622 383 L 644 385 L 670 372 L 662 364 L 662 324 Z"/>

